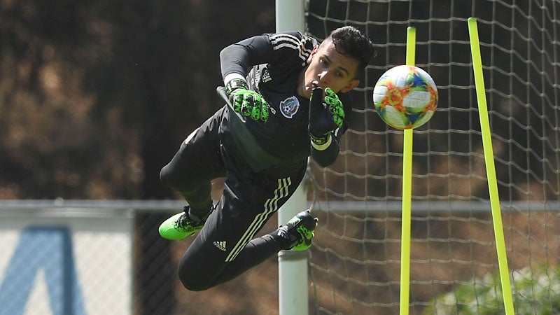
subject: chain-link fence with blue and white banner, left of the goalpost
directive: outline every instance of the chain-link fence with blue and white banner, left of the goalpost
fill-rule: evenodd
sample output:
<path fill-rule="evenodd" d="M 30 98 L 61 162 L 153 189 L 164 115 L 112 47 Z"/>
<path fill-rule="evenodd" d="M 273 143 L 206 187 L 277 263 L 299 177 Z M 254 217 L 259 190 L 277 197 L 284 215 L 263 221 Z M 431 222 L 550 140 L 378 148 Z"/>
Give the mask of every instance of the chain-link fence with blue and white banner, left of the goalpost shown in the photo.
<path fill-rule="evenodd" d="M 0 315 L 278 314 L 276 258 L 204 292 L 181 286 L 193 239 L 167 241 L 158 226 L 183 205 L 0 202 Z"/>

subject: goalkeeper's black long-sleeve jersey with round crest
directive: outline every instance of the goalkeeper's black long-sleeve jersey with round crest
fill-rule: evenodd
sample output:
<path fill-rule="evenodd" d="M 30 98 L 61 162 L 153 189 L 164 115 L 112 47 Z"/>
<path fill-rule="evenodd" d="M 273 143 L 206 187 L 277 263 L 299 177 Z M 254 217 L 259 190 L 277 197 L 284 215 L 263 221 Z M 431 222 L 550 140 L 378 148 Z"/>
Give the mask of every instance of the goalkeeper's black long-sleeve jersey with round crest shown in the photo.
<path fill-rule="evenodd" d="M 270 106 L 266 123 L 251 119 L 244 122 L 244 127 L 253 135 L 258 146 L 277 158 L 272 158 L 269 165 L 307 163 L 307 157 L 311 153 L 308 132 L 309 99 L 297 94 L 297 85 L 316 45 L 318 43 L 314 38 L 299 32 L 264 34 L 230 45 L 220 54 L 222 76 L 225 78 L 231 73 L 244 76 L 249 89 L 261 94 Z M 339 93 L 339 98 L 346 113 L 350 113 L 349 95 Z M 230 128 L 234 129 L 233 126 Z M 333 141 L 338 141 L 346 128 L 344 123 L 337 130 Z M 336 144 L 336 150 L 321 152 L 319 155 L 323 156 L 319 159 L 334 161 L 337 154 Z M 314 158 L 318 160 L 316 154 Z M 264 167 L 266 165 L 260 168 Z"/>

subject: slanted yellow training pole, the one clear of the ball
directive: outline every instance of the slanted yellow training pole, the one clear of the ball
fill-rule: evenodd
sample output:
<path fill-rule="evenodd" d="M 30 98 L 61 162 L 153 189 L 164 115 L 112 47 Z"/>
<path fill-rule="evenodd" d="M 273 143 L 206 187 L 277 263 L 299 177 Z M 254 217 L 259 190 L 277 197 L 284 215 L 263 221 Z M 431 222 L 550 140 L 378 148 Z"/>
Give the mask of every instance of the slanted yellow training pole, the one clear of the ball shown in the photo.
<path fill-rule="evenodd" d="M 470 36 L 470 52 L 472 54 L 472 69 L 475 72 L 475 87 L 478 100 L 478 113 L 480 116 L 480 130 L 482 131 L 482 147 L 484 148 L 484 162 L 486 164 L 486 176 L 488 177 L 488 189 L 490 193 L 490 205 L 492 208 L 494 237 L 496 237 L 496 251 L 498 251 L 498 266 L 500 268 L 503 302 L 505 314 L 513 315 L 514 309 L 512 288 L 510 286 L 510 272 L 507 268 L 507 255 L 505 254 L 505 240 L 503 237 L 500 199 L 498 197 L 498 183 L 496 181 L 496 167 L 494 166 L 493 160 L 494 153 L 492 149 L 490 123 L 488 120 L 488 109 L 486 107 L 484 76 L 482 74 L 482 58 L 480 57 L 480 43 L 478 40 L 477 20 L 475 18 L 468 19 L 468 32 Z"/>

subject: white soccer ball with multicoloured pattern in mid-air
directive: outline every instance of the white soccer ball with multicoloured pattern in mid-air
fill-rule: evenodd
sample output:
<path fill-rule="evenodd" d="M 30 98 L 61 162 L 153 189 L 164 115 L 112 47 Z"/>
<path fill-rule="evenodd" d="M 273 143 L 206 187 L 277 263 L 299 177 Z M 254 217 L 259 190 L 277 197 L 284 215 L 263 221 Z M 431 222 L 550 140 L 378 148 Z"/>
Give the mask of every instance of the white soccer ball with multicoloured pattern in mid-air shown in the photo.
<path fill-rule="evenodd" d="M 375 83 L 373 104 L 387 125 L 414 129 L 432 118 L 437 107 L 437 87 L 419 67 L 395 66 Z"/>

